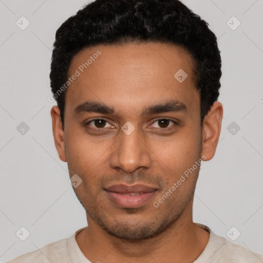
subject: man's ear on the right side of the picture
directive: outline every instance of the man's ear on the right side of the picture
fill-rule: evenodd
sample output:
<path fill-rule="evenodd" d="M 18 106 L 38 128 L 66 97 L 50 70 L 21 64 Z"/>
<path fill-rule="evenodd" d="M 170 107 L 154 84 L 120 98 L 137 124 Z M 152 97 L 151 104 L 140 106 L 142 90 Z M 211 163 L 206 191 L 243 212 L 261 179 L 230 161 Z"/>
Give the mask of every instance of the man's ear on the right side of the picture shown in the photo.
<path fill-rule="evenodd" d="M 202 130 L 202 156 L 205 156 L 205 161 L 211 160 L 216 152 L 216 146 L 220 136 L 221 123 L 223 117 L 223 106 L 216 101 L 211 106 L 208 114 L 203 120 Z"/>

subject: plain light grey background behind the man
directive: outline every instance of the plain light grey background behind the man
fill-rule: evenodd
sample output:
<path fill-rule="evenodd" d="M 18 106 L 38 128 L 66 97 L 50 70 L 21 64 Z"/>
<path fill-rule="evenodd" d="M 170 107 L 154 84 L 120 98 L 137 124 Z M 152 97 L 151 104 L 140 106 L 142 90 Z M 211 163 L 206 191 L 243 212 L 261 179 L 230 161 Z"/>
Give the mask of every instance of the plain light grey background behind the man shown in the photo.
<path fill-rule="evenodd" d="M 0 0 L 3 262 L 86 226 L 85 211 L 68 182 L 67 165 L 53 144 L 50 108 L 54 103 L 47 100 L 55 31 L 85 3 Z M 219 39 L 223 64 L 222 131 L 215 157 L 201 167 L 194 221 L 229 240 L 227 232 L 235 227 L 241 233 L 235 243 L 263 254 L 263 1 L 183 3 L 210 24 Z M 21 16 L 30 22 L 25 30 L 16 25 Z M 235 30 L 238 21 L 232 16 L 241 22 Z M 21 122 L 29 126 L 24 135 L 16 128 Z M 25 241 L 16 236 L 21 227 L 30 232 Z M 232 238 L 236 229 L 229 232 Z"/>

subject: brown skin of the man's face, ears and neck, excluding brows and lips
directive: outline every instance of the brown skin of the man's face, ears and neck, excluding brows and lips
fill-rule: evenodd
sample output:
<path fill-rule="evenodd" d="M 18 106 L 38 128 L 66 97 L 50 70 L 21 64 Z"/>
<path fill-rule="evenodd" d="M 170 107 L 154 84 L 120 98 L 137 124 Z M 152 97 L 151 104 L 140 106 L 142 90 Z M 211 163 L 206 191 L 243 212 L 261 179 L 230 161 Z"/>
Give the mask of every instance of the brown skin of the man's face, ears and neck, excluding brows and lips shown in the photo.
<path fill-rule="evenodd" d="M 68 76 L 97 50 L 101 55 L 66 90 L 64 130 L 59 108 L 51 109 L 59 157 L 68 163 L 70 176 L 83 180 L 73 189 L 86 210 L 88 228 L 76 236 L 77 243 L 92 262 L 193 262 L 209 241 L 209 233 L 192 219 L 200 166 L 158 208 L 153 202 L 196 161 L 213 158 L 222 104 L 212 105 L 201 127 L 193 60 L 171 44 L 89 47 L 73 58 Z M 188 75 L 182 83 L 174 78 L 179 69 Z M 171 100 L 186 109 L 142 115 L 145 108 Z M 115 112 L 76 114 L 86 101 L 104 103 Z M 91 122 L 96 118 L 106 121 Z M 121 129 L 126 122 L 135 128 L 130 135 Z M 140 208 L 121 208 L 104 191 L 119 183 L 158 191 Z"/>

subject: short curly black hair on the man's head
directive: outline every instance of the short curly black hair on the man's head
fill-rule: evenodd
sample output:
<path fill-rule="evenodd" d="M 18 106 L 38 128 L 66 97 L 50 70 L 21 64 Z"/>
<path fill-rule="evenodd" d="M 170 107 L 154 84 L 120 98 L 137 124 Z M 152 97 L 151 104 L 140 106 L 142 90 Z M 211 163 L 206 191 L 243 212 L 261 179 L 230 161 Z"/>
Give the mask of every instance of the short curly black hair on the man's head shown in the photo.
<path fill-rule="evenodd" d="M 66 92 L 61 90 L 74 55 L 99 44 L 131 42 L 172 43 L 189 51 L 200 91 L 202 125 L 219 96 L 221 77 L 220 51 L 208 23 L 178 0 L 96 0 L 69 17 L 55 34 L 50 85 L 63 128 Z"/>

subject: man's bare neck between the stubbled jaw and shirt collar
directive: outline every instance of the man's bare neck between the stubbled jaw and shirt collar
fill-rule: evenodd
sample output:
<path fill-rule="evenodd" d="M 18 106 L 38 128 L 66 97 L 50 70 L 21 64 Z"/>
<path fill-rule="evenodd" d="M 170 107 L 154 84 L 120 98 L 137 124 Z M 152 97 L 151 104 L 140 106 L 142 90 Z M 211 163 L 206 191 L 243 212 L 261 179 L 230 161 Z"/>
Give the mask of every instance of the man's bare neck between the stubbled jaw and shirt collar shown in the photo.
<path fill-rule="evenodd" d="M 151 239 L 130 242 L 106 233 L 88 214 L 88 228 L 76 235 L 83 254 L 92 262 L 193 262 L 202 253 L 209 233 L 192 220 L 193 201 L 164 232 Z"/>

